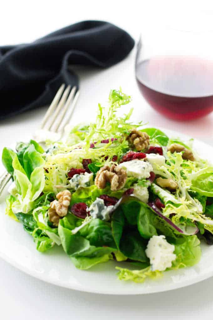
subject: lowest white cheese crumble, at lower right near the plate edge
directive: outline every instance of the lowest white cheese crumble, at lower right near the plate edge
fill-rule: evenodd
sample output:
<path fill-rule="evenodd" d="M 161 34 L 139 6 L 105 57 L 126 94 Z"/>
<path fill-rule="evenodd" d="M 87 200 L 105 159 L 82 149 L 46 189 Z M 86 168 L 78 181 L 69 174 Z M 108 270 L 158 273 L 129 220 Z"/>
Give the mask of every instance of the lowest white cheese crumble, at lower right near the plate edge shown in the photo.
<path fill-rule="evenodd" d="M 170 268 L 172 261 L 176 259 L 176 254 L 173 253 L 174 250 L 175 246 L 169 244 L 165 236 L 152 236 L 145 250 L 150 260 L 152 271 L 165 271 L 166 268 Z"/>

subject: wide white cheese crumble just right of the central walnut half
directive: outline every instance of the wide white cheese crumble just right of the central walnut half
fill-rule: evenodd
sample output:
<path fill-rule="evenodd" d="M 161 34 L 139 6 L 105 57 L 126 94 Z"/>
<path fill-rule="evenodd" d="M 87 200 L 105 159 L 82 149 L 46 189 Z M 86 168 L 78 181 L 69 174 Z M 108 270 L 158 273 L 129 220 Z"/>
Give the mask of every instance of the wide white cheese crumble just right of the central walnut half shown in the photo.
<path fill-rule="evenodd" d="M 146 179 L 150 177 L 150 171 L 153 171 L 152 165 L 149 162 L 143 160 L 130 160 L 118 165 L 124 169 L 128 177 L 134 177 L 138 179 Z"/>

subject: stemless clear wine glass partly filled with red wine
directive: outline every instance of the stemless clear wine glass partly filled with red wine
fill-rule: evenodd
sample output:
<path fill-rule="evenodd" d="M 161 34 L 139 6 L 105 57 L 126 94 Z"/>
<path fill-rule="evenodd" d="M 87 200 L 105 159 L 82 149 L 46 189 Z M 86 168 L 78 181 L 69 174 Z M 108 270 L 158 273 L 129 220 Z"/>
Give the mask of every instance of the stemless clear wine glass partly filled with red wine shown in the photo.
<path fill-rule="evenodd" d="M 150 28 L 138 42 L 135 75 L 146 101 L 175 120 L 213 111 L 213 27 Z"/>

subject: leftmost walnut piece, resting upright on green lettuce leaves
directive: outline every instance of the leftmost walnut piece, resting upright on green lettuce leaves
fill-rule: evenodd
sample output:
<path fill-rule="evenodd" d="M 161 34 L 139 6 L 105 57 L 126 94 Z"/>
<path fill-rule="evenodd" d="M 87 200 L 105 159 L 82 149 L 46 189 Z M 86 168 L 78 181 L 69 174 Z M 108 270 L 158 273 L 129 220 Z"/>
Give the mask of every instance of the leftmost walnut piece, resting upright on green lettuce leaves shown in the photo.
<path fill-rule="evenodd" d="M 71 192 L 69 190 L 60 191 L 56 198 L 50 203 L 48 217 L 53 226 L 58 227 L 59 220 L 67 215 L 68 207 L 71 200 Z"/>

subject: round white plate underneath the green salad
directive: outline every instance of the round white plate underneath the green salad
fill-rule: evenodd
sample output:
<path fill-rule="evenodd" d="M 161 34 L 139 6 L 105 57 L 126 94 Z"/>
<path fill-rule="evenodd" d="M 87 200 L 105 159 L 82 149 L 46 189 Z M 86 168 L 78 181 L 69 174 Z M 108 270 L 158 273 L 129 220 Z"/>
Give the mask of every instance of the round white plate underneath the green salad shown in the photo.
<path fill-rule="evenodd" d="M 177 132 L 162 131 L 170 137 L 189 139 Z M 195 140 L 194 148 L 204 159 L 211 161 L 213 158 L 213 148 L 205 143 Z M 213 246 L 206 244 L 201 245 L 201 261 L 194 267 L 167 271 L 161 279 L 147 279 L 143 284 L 117 279 L 115 266 L 125 267 L 125 262 L 109 261 L 87 271 L 78 270 L 57 245 L 47 253 L 36 251 L 32 237 L 23 230 L 22 225 L 4 215 L 6 195 L 5 191 L 0 199 L 0 256 L 16 268 L 43 281 L 80 291 L 127 295 L 168 291 L 213 276 Z"/>

